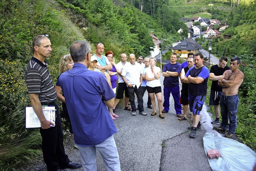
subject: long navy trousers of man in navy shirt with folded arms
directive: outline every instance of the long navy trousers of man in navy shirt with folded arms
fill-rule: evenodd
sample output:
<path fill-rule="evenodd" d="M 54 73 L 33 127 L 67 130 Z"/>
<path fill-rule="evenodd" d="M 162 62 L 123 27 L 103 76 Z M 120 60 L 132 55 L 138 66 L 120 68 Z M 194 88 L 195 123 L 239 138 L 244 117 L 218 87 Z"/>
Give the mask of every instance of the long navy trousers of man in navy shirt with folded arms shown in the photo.
<path fill-rule="evenodd" d="M 170 110 L 170 93 L 174 99 L 174 108 L 176 114 L 181 114 L 181 105 L 180 105 L 180 87 L 176 85 L 174 87 L 164 86 L 164 111 L 168 112 Z"/>

